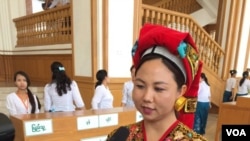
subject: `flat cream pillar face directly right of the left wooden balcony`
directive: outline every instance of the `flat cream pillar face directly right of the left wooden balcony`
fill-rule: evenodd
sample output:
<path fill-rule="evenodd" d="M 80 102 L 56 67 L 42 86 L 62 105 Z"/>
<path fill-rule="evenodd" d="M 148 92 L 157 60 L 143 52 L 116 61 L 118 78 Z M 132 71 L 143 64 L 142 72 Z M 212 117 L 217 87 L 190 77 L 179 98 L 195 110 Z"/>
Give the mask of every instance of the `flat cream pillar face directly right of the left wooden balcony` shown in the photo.
<path fill-rule="evenodd" d="M 91 0 L 74 0 L 73 5 L 73 59 L 75 76 L 92 75 L 91 56 Z"/>

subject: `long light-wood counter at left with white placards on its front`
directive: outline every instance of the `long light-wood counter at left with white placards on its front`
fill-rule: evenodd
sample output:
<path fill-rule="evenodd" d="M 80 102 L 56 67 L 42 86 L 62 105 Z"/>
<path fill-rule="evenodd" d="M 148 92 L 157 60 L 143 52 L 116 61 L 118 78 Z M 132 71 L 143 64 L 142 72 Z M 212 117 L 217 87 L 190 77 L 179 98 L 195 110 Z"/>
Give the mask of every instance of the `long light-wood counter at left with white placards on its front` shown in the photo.
<path fill-rule="evenodd" d="M 118 124 L 91 129 L 78 129 L 78 119 L 91 116 L 118 115 Z M 16 133 L 15 141 L 80 141 L 83 139 L 107 136 L 113 129 L 136 122 L 138 112 L 134 108 L 114 108 L 106 110 L 85 110 L 75 112 L 39 113 L 10 116 Z M 100 118 L 99 118 L 100 119 Z M 27 123 L 39 121 L 52 121 L 52 133 L 40 135 L 27 135 Z M 37 122 L 37 123 L 38 123 Z M 97 123 L 100 122 L 96 121 Z M 100 124 L 100 123 L 99 123 Z M 30 128 L 30 126 L 28 126 Z"/>

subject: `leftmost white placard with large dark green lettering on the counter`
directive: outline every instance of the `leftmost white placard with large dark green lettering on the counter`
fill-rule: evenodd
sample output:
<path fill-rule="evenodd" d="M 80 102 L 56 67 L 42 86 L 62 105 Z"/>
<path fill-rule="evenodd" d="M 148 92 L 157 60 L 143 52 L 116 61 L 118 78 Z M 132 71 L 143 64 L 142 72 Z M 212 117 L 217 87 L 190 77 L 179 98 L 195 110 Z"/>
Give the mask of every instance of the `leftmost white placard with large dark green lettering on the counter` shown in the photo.
<path fill-rule="evenodd" d="M 24 129 L 26 136 L 35 136 L 53 133 L 52 120 L 25 121 Z"/>

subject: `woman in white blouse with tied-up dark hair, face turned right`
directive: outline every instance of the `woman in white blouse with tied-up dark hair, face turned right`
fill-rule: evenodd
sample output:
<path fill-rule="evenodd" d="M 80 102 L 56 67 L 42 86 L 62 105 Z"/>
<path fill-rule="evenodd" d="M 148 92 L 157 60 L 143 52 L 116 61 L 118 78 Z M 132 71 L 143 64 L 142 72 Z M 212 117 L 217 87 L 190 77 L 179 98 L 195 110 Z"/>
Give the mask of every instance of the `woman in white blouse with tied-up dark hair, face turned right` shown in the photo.
<path fill-rule="evenodd" d="M 108 88 L 108 73 L 102 69 L 96 73 L 95 93 L 92 98 L 92 109 L 108 109 L 113 108 L 113 95 Z"/>

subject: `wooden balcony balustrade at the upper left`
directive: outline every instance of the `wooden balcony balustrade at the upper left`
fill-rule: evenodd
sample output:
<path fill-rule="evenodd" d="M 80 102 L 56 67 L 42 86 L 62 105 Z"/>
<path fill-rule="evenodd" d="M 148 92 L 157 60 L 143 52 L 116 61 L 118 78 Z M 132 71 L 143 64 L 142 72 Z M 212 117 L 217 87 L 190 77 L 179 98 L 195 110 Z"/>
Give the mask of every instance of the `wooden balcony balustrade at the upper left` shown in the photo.
<path fill-rule="evenodd" d="M 71 19 L 70 5 L 16 18 L 16 46 L 71 43 Z"/>

